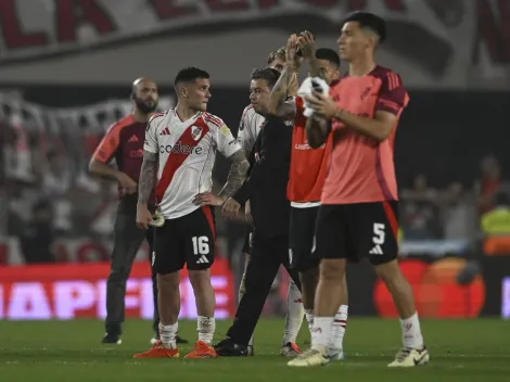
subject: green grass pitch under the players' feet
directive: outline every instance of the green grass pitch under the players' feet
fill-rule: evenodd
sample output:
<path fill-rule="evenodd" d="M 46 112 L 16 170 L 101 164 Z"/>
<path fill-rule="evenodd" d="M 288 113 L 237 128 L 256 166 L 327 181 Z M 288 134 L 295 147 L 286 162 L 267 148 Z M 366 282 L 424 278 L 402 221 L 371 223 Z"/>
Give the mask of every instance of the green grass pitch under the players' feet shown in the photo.
<path fill-rule="evenodd" d="M 229 321 L 217 323 L 215 341 Z M 194 321 L 181 321 L 179 334 L 195 340 Z M 302 328 L 303 347 L 307 333 Z M 400 342 L 396 320 L 350 318 L 345 336 L 347 359 L 327 367 L 291 369 L 278 355 L 283 319 L 263 319 L 255 332 L 254 357 L 204 360 L 135 360 L 150 347 L 150 322 L 125 323 L 122 345 L 101 345 L 97 320 L 0 322 L 0 381 L 510 381 L 510 321 L 499 319 L 424 320 L 431 364 L 390 370 Z M 191 345 L 181 346 L 181 357 Z"/>

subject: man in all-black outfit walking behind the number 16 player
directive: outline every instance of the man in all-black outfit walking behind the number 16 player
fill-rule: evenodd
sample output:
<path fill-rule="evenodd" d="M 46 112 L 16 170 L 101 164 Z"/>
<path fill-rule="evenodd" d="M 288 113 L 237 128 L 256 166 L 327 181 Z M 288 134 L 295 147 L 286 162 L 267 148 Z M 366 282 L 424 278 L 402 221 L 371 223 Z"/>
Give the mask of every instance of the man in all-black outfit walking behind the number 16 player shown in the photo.
<path fill-rule="evenodd" d="M 268 114 L 269 94 L 280 74 L 271 68 L 252 73 L 250 99 L 266 122 L 251 155 L 250 178 L 226 202 L 224 212 L 239 211 L 250 200 L 254 233 L 243 295 L 227 339 L 215 346 L 219 356 L 245 356 L 247 344 L 264 308 L 280 265 L 296 285 L 299 278 L 289 268 L 290 202 L 286 199 L 291 162 L 292 122 L 285 124 Z"/>

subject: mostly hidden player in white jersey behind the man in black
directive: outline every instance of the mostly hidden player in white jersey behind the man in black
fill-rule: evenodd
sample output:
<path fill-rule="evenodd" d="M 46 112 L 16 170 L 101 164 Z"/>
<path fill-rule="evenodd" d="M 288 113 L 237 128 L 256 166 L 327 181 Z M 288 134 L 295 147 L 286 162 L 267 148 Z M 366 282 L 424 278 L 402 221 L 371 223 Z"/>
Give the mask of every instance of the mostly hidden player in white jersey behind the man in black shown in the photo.
<path fill-rule="evenodd" d="M 279 48 L 267 58 L 267 66 L 273 68 L 278 72 L 282 72 L 286 65 L 285 48 Z M 293 77 L 292 81 L 289 84 L 289 94 L 296 96 L 297 93 L 297 75 Z M 257 136 L 260 131 L 260 126 L 263 125 L 265 118 L 255 112 L 253 106 L 247 105 L 241 116 L 241 122 L 239 124 L 238 130 L 238 140 L 241 143 L 246 155 L 252 152 Z M 244 237 L 243 253 L 244 253 L 244 272 L 241 279 L 241 284 L 239 286 L 239 301 L 243 297 L 246 289 L 244 283 L 244 276 L 246 272 L 246 266 L 250 262 L 250 243 L 252 237 L 252 215 L 251 215 L 251 205 L 250 201 L 245 204 L 245 216 L 246 220 L 250 224 L 246 227 L 246 232 Z M 286 315 L 285 315 L 285 328 L 283 332 L 282 347 L 280 354 L 283 356 L 296 356 L 299 353 L 299 347 L 295 343 L 297 333 L 299 332 L 301 326 L 303 323 L 303 317 L 305 310 L 303 307 L 303 298 L 297 285 L 292 281 L 292 278 L 289 280 L 289 292 L 286 294 Z M 248 355 L 254 355 L 253 348 L 253 335 L 250 339 Z"/>

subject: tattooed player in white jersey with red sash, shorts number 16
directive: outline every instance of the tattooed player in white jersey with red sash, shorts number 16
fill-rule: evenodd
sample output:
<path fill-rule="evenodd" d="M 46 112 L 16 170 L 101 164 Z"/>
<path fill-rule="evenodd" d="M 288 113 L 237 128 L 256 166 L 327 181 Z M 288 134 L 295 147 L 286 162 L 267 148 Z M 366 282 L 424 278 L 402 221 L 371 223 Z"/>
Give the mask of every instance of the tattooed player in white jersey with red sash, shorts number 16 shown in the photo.
<path fill-rule="evenodd" d="M 181 69 L 175 79 L 176 107 L 154 115 L 146 127 L 137 225 L 146 229 L 152 222 L 146 202 L 157 170 L 157 212 L 164 217 L 164 225 L 155 228 L 152 266 L 160 289 L 161 341 L 135 358 L 179 357 L 176 345 L 179 271 L 184 265 L 199 315 L 199 341 L 186 358 L 217 357 L 212 347 L 215 331 L 215 295 L 209 270 L 215 252 L 212 206 L 221 205 L 238 190 L 250 164 L 225 123 L 206 113 L 209 86 L 207 72 L 195 67 Z M 211 192 L 216 151 L 232 163 L 219 195 Z"/>

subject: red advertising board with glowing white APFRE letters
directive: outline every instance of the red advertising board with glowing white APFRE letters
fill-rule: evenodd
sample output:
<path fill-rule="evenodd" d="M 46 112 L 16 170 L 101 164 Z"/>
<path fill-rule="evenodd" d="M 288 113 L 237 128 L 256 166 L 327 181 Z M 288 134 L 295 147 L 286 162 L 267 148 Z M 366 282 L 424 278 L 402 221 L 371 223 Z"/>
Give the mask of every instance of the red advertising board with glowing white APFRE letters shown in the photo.
<path fill-rule="evenodd" d="M 74 263 L 0 267 L 0 320 L 69 320 L 106 317 L 107 263 Z M 180 318 L 196 318 L 193 289 L 182 272 Z M 228 263 L 217 259 L 211 280 L 216 295 L 215 317 L 234 313 L 233 278 Z M 149 262 L 135 263 L 126 286 L 126 317 L 152 319 Z"/>

